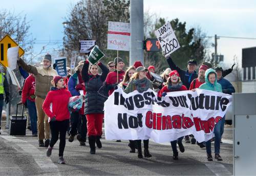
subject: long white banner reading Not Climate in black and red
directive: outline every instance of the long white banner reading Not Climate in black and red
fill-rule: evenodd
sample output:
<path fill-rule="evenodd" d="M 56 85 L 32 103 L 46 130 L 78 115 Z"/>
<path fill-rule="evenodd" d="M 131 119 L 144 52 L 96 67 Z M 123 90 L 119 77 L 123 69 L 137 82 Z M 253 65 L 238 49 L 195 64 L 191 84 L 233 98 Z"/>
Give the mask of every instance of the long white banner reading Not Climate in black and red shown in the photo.
<path fill-rule="evenodd" d="M 158 101 L 151 89 L 126 94 L 118 88 L 104 104 L 105 138 L 151 138 L 162 143 L 193 134 L 198 142 L 208 141 L 214 136 L 215 124 L 231 104 L 231 97 L 196 89 L 168 92 Z"/>

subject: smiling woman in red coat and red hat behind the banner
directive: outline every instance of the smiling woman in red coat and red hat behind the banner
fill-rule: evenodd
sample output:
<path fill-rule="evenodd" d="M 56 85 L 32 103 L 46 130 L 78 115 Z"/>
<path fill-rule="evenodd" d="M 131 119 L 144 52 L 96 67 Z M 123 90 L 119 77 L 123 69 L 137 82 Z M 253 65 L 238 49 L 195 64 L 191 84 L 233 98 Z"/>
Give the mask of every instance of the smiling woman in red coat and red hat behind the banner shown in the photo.
<path fill-rule="evenodd" d="M 166 92 L 174 92 L 174 91 L 183 91 L 187 90 L 186 86 L 184 86 L 180 80 L 180 76 L 177 70 L 173 70 L 169 73 L 169 78 L 167 81 L 167 86 L 164 86 L 159 92 L 158 96 L 162 97 L 166 95 Z M 173 159 L 178 160 L 178 150 L 177 143 L 179 145 L 180 152 L 184 152 L 184 146 L 182 144 L 183 137 L 178 138 L 175 141 L 170 142 L 173 148 Z"/>

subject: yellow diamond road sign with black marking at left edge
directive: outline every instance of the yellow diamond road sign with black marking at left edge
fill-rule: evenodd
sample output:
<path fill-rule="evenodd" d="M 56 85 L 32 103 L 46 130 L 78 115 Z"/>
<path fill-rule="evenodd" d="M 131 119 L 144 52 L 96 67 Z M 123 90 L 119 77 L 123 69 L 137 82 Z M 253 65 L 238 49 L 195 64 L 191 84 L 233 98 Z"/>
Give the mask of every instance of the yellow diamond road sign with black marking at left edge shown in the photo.
<path fill-rule="evenodd" d="M 7 60 L 7 49 L 10 47 L 18 46 L 18 44 L 9 36 L 6 35 L 1 41 L 0 41 L 0 63 L 8 67 L 8 60 Z M 19 47 L 18 54 L 19 57 L 24 55 L 23 48 Z"/>

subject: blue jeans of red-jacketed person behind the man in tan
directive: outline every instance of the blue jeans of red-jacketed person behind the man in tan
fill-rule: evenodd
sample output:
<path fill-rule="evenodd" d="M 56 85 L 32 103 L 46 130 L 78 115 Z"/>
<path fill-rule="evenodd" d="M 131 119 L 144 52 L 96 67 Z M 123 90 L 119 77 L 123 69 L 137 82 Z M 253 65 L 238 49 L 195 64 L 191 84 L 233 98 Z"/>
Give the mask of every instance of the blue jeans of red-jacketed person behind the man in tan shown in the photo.
<path fill-rule="evenodd" d="M 35 102 L 31 102 L 31 100 L 27 99 L 27 106 L 29 110 L 32 135 L 35 135 L 37 134 L 37 114 L 36 114 Z"/>

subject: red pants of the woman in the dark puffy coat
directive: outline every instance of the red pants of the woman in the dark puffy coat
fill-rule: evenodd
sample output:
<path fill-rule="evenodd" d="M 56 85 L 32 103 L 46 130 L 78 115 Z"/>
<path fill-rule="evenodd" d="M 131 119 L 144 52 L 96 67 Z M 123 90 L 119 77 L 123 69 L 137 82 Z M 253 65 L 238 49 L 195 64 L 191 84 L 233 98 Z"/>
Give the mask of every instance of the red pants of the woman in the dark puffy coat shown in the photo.
<path fill-rule="evenodd" d="M 104 114 L 86 114 L 88 136 L 101 136 Z"/>

